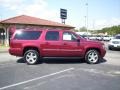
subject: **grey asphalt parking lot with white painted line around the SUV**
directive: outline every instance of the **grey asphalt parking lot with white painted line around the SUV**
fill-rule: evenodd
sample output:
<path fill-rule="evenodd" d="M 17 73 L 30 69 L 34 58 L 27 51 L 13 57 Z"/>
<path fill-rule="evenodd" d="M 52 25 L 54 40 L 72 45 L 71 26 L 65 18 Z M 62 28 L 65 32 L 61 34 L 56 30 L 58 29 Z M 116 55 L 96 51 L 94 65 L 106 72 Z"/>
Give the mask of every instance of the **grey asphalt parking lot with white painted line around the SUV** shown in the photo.
<path fill-rule="evenodd" d="M 120 90 L 120 51 L 107 49 L 104 60 L 95 65 L 79 59 L 26 65 L 8 53 L 0 53 L 0 60 L 0 90 Z"/>

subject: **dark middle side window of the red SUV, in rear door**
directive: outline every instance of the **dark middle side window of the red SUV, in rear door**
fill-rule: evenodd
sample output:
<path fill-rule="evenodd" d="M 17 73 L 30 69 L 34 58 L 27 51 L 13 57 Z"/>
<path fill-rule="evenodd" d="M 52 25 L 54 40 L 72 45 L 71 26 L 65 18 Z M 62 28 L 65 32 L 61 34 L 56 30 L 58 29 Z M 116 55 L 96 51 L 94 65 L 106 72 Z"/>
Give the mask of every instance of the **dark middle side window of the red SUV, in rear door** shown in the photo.
<path fill-rule="evenodd" d="M 46 40 L 59 40 L 59 32 L 58 31 L 48 31 L 45 36 Z"/>

